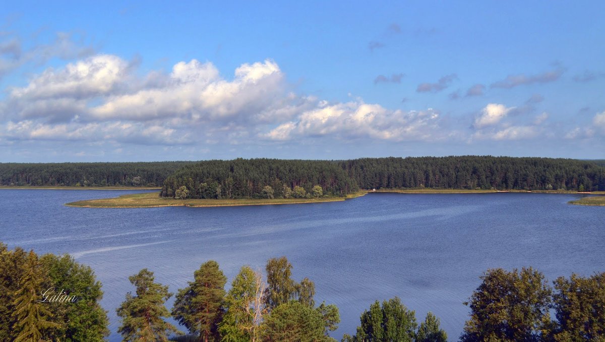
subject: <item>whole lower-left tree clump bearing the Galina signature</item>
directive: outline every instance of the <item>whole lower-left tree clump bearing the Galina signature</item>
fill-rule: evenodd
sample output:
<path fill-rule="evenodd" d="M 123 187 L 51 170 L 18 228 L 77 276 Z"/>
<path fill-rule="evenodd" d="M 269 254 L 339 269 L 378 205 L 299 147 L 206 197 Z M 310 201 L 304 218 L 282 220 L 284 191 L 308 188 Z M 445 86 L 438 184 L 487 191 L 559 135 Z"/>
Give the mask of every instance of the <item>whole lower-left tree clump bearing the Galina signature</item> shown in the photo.
<path fill-rule="evenodd" d="M 106 312 L 99 305 L 101 284 L 90 267 L 68 255 L 38 258 L 33 251 L 9 251 L 0 243 L 0 274 L 1 341 L 16 340 L 18 335 L 26 340 L 38 336 L 49 341 L 103 341 L 109 334 Z M 49 289 L 75 300 L 44 301 L 43 293 Z"/>

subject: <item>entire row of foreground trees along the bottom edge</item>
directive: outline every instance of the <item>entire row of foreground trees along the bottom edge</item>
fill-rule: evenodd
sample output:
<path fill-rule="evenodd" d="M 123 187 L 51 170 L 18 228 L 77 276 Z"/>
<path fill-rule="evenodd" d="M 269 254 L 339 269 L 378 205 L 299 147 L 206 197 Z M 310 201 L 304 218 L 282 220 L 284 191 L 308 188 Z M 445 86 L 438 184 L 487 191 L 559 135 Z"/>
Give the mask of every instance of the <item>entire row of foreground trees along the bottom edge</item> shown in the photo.
<path fill-rule="evenodd" d="M 142 269 L 129 277 L 117 308 L 123 341 L 335 341 L 338 307 L 315 303 L 315 284 L 292 279 L 286 257 L 271 258 L 261 271 L 243 266 L 231 283 L 216 261 L 206 261 L 175 295 Z M 0 243 L 0 340 L 103 341 L 109 335 L 103 292 L 90 267 L 69 255 L 36 255 Z M 460 341 L 603 341 L 605 272 L 558 277 L 552 286 L 532 268 L 489 269 L 468 302 Z M 54 289 L 51 297 L 48 289 Z M 67 300 L 65 300 L 67 298 Z M 75 298 L 71 301 L 70 298 Z M 551 312 L 554 317 L 551 317 Z M 172 317 L 186 334 L 166 321 Z M 361 314 L 354 335 L 342 342 L 443 342 L 440 320 L 416 313 L 398 297 L 375 301 Z"/>

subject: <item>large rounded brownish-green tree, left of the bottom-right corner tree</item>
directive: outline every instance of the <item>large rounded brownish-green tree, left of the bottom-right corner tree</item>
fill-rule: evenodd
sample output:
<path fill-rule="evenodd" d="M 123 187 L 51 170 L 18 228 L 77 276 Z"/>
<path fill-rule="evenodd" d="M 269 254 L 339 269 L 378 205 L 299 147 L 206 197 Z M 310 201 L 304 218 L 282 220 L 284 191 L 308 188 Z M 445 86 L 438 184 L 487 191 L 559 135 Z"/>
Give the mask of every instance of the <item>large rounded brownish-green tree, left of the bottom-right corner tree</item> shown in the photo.
<path fill-rule="evenodd" d="M 462 341 L 538 341 L 548 334 L 551 288 L 532 268 L 490 269 L 467 304 Z"/>

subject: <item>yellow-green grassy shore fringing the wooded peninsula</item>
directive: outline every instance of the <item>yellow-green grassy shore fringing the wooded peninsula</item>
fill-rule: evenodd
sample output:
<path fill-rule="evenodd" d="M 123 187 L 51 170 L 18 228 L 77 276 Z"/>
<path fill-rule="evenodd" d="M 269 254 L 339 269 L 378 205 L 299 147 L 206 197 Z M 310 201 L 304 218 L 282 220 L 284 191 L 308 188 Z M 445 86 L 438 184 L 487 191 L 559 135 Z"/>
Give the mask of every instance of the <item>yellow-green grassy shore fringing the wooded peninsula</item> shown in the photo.
<path fill-rule="evenodd" d="M 295 203 L 335 202 L 363 196 L 367 192 L 359 191 L 344 197 L 320 197 L 318 199 L 239 199 L 239 200 L 175 200 L 159 196 L 159 192 L 129 194 L 112 199 L 83 200 L 66 203 L 67 206 L 85 208 L 153 208 L 158 206 L 236 206 L 236 205 L 276 205 Z"/>

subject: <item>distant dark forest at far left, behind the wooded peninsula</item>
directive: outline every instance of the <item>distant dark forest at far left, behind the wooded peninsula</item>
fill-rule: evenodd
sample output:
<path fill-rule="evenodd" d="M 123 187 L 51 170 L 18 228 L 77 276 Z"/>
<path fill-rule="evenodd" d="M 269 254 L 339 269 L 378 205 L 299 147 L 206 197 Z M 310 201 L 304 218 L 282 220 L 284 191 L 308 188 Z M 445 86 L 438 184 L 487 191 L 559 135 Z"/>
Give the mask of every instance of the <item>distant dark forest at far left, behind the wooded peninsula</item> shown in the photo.
<path fill-rule="evenodd" d="M 162 186 L 192 162 L 0 163 L 4 186 Z"/>

